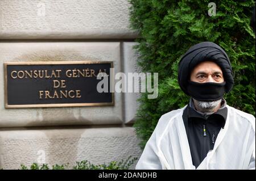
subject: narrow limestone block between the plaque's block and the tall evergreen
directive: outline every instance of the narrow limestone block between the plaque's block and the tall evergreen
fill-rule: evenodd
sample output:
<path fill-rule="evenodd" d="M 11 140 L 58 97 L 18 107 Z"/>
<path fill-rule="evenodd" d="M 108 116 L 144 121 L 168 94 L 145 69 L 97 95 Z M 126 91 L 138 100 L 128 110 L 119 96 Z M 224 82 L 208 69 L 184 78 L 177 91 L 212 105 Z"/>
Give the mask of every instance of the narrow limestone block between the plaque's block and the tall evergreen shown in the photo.
<path fill-rule="evenodd" d="M 128 73 L 141 73 L 141 70 L 137 65 L 138 54 L 135 49 L 133 49 L 134 45 L 136 45 L 134 42 L 123 43 L 123 70 L 126 77 L 128 77 Z M 137 99 L 139 98 L 140 94 L 138 92 L 126 92 L 123 94 L 125 100 L 125 123 L 133 123 L 135 121 L 135 115 L 139 107 Z"/>

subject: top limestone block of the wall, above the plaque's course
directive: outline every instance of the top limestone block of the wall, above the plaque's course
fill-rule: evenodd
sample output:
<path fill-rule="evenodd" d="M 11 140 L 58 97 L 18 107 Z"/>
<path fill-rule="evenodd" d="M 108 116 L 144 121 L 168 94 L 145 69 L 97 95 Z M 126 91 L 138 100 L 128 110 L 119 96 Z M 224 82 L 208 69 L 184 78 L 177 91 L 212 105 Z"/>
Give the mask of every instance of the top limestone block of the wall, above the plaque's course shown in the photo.
<path fill-rule="evenodd" d="M 0 39 L 126 39 L 127 0 L 1 0 Z"/>

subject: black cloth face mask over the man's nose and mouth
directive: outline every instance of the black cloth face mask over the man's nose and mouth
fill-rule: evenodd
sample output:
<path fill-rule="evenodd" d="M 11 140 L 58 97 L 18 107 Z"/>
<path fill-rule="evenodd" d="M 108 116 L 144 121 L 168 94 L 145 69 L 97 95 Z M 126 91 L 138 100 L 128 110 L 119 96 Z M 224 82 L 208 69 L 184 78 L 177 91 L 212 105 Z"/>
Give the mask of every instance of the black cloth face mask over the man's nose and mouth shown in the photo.
<path fill-rule="evenodd" d="M 188 81 L 188 93 L 193 99 L 201 101 L 214 101 L 223 98 L 225 94 L 226 82 L 215 83 L 215 82 L 192 82 Z"/>

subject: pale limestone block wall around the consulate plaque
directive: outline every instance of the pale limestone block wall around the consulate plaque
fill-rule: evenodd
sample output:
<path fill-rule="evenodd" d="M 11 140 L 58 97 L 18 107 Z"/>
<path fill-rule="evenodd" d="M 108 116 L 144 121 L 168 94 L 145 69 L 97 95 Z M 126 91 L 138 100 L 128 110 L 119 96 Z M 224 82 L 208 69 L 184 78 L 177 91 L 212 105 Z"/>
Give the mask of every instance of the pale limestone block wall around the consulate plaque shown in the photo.
<path fill-rule="evenodd" d="M 114 106 L 6 109 L 3 73 L 4 62 L 85 60 L 138 71 L 136 37 L 127 0 L 1 0 L 0 168 L 139 157 L 138 94 L 115 92 Z"/>

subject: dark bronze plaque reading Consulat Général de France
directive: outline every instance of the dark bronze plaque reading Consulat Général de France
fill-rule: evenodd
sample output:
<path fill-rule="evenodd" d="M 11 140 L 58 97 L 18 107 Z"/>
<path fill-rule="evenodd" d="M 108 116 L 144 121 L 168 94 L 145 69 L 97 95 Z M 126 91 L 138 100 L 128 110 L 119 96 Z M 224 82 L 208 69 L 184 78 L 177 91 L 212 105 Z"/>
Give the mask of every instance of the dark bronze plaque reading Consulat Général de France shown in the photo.
<path fill-rule="evenodd" d="M 5 107 L 113 106 L 110 92 L 113 62 L 6 62 Z M 98 73 L 108 78 L 108 91 L 98 92 Z"/>

